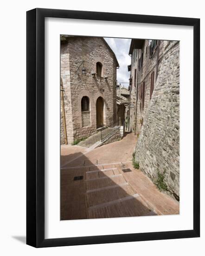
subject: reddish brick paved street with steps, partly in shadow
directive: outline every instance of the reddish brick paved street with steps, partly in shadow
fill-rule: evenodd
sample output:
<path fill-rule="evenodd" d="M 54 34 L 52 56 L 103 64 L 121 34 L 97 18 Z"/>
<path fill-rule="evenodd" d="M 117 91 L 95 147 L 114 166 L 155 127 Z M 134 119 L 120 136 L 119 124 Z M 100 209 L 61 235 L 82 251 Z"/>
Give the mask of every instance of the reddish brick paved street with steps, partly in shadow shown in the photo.
<path fill-rule="evenodd" d="M 61 220 L 179 214 L 179 203 L 133 168 L 135 144 L 131 133 L 93 150 L 61 147 Z"/>

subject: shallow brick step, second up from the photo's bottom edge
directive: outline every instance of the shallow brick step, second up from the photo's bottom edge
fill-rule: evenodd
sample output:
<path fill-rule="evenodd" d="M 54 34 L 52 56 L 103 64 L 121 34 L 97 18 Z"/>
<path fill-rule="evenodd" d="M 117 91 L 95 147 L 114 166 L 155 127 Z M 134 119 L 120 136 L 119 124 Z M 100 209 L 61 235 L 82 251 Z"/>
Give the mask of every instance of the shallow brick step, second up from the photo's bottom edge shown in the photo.
<path fill-rule="evenodd" d="M 113 184 L 111 186 L 112 188 L 109 188 L 109 189 L 98 188 L 98 189 L 93 189 L 93 192 L 87 193 L 88 207 L 101 205 L 101 204 L 113 202 L 116 200 L 121 200 L 122 198 L 125 198 L 128 196 L 131 196 L 130 198 L 132 198 L 132 196 L 135 195 L 135 191 L 128 184 L 122 187 L 120 186 L 120 184 L 118 185 Z"/>

